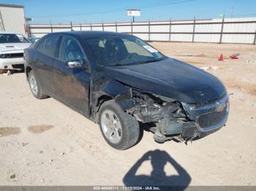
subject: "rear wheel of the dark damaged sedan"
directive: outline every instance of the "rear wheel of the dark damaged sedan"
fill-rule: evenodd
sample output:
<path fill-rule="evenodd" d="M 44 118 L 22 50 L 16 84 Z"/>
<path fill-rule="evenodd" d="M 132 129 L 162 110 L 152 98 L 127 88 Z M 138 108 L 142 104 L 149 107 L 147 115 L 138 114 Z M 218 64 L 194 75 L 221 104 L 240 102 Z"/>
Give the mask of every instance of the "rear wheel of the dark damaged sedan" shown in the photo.
<path fill-rule="evenodd" d="M 34 71 L 29 71 L 29 87 L 31 90 L 31 93 L 34 95 L 35 98 L 43 99 L 48 98 L 48 95 L 45 95 L 42 93 L 41 86 L 39 85 L 39 82 L 37 80 L 37 77 L 34 74 Z"/>

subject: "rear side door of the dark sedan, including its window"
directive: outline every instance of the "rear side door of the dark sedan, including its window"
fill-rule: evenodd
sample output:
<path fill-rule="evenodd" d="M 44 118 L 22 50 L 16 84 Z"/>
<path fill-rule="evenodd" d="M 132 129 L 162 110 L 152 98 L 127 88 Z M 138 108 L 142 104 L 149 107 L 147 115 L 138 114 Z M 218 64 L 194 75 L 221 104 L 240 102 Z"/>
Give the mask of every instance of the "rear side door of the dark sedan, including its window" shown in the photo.
<path fill-rule="evenodd" d="M 45 93 L 54 95 L 53 63 L 58 53 L 60 36 L 50 35 L 42 39 L 37 45 L 37 56 L 34 57 L 34 66 L 39 84 Z"/>

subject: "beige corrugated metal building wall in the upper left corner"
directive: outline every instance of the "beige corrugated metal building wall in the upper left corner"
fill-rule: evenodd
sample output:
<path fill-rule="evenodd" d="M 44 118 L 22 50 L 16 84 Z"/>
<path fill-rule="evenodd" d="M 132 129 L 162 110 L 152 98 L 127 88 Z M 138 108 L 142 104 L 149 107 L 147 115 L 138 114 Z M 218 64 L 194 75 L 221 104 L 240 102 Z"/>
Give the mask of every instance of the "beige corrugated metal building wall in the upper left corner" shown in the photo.
<path fill-rule="evenodd" d="M 23 7 L 0 5 L 0 13 L 4 24 L 4 28 L 0 28 L 1 31 L 25 34 L 25 15 Z"/>

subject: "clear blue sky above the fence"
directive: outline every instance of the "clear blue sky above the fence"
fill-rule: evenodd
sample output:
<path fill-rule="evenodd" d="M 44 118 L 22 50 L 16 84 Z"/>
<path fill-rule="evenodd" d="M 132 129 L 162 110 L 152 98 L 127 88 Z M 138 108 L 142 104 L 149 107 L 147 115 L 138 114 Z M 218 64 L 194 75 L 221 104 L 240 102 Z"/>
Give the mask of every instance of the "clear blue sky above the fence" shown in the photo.
<path fill-rule="evenodd" d="M 0 0 L 25 7 L 31 23 L 111 23 L 131 21 L 127 9 L 140 9 L 144 20 L 256 17 L 255 0 Z"/>

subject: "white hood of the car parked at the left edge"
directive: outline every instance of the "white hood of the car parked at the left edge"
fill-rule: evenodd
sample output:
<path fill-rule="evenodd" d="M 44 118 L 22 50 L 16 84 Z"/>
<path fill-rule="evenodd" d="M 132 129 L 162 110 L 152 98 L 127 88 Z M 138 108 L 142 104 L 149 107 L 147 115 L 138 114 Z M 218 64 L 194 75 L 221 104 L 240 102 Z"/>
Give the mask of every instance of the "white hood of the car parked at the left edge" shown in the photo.
<path fill-rule="evenodd" d="M 9 52 L 23 52 L 23 50 L 29 47 L 31 43 L 2 43 L 0 44 L 0 52 L 9 53 Z"/>

